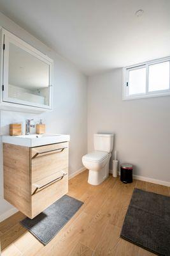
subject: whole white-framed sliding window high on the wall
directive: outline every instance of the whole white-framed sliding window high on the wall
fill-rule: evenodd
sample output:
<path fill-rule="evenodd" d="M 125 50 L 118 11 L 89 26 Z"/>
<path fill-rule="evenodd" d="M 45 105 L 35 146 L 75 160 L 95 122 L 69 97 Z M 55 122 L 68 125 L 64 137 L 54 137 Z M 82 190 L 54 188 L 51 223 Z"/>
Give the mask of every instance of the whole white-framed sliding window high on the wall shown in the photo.
<path fill-rule="evenodd" d="M 123 99 L 170 95 L 170 57 L 124 68 Z"/>

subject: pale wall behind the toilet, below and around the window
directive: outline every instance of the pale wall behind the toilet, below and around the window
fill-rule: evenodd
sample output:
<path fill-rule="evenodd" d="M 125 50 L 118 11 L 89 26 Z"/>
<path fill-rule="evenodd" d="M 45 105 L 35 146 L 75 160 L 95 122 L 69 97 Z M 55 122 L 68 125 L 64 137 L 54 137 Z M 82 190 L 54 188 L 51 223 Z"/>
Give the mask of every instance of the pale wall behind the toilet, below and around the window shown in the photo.
<path fill-rule="evenodd" d="M 95 132 L 114 132 L 120 162 L 134 164 L 136 175 L 170 181 L 169 109 L 169 96 L 122 101 L 122 68 L 89 77 L 88 151 Z"/>

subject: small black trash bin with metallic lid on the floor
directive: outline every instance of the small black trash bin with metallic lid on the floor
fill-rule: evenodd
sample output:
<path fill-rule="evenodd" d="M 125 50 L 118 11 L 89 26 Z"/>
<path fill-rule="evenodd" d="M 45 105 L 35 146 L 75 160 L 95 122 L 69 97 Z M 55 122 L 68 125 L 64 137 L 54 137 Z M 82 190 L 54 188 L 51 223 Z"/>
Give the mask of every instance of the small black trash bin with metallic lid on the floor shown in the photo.
<path fill-rule="evenodd" d="M 132 164 L 121 164 L 120 165 L 120 180 L 124 183 L 132 183 Z"/>

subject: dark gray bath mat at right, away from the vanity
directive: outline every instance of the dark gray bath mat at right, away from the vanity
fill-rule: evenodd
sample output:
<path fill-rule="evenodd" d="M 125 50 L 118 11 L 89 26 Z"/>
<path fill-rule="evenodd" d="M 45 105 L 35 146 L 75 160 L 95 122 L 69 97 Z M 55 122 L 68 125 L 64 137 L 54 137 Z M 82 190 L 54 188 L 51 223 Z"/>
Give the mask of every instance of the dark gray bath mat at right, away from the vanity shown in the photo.
<path fill-rule="evenodd" d="M 134 189 L 120 237 L 157 255 L 170 255 L 170 197 Z"/>

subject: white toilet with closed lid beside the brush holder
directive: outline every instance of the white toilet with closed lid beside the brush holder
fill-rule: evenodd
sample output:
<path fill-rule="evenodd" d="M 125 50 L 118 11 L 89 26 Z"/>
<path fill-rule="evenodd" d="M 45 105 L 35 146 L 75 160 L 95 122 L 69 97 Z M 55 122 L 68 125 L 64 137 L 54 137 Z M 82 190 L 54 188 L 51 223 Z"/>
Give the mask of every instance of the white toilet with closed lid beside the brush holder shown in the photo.
<path fill-rule="evenodd" d="M 88 182 L 99 185 L 109 175 L 113 134 L 94 134 L 94 150 L 82 157 L 83 165 L 89 170 Z"/>

